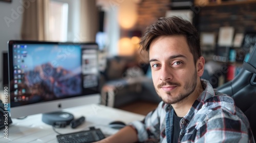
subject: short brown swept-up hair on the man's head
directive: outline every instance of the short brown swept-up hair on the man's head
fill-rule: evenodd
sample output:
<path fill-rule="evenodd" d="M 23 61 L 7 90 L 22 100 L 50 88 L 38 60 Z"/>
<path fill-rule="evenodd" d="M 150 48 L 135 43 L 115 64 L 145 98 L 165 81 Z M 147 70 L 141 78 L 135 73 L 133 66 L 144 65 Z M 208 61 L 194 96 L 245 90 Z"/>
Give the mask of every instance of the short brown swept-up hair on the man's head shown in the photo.
<path fill-rule="evenodd" d="M 140 49 L 148 52 L 150 44 L 155 38 L 169 35 L 184 35 L 186 37 L 189 50 L 193 54 L 196 64 L 201 57 L 199 33 L 189 21 L 177 16 L 158 18 L 155 23 L 148 26 L 139 42 Z"/>

